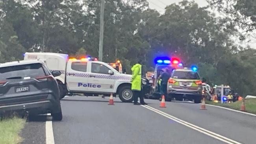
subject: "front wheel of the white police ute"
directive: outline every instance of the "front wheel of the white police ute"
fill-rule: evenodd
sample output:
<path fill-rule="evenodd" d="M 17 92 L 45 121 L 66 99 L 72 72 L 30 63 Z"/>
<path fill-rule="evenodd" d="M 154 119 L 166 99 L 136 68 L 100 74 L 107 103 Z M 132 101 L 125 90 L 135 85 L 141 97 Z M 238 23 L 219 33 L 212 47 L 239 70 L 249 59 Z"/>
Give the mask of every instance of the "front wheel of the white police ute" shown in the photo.
<path fill-rule="evenodd" d="M 132 102 L 133 101 L 133 92 L 130 86 L 121 87 L 118 90 L 119 98 L 122 102 Z"/>

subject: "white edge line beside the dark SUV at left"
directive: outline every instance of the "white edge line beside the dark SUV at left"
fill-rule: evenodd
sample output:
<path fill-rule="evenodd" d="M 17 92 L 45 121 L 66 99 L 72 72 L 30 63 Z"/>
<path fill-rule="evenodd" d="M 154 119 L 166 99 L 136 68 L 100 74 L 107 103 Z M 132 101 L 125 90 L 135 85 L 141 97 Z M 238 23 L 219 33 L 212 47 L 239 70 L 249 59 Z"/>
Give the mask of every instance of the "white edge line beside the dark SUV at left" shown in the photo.
<path fill-rule="evenodd" d="M 49 116 L 49 115 L 50 114 L 47 114 L 47 116 Z M 51 120 L 49 120 L 49 121 L 47 120 L 45 122 L 45 137 L 46 137 L 46 144 L 55 144 Z"/>

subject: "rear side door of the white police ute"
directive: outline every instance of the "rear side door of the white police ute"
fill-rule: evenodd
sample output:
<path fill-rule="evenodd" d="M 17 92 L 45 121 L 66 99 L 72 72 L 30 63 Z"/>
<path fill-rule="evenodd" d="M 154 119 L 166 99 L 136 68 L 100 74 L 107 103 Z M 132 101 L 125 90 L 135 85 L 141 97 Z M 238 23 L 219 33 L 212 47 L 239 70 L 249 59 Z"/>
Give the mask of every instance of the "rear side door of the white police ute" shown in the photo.
<path fill-rule="evenodd" d="M 68 62 L 66 82 L 69 91 L 87 91 L 88 76 L 86 61 Z"/>

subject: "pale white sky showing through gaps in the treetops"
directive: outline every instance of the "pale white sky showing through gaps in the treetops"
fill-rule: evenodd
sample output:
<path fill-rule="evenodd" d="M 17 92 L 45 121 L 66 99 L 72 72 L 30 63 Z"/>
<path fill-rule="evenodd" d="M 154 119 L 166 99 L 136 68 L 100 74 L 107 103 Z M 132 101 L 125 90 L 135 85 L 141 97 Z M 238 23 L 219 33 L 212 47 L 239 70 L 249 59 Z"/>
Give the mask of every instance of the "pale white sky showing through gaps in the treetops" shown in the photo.
<path fill-rule="evenodd" d="M 164 13 L 165 11 L 165 7 L 170 5 L 170 4 L 173 4 L 173 3 L 178 3 L 178 2 L 181 2 L 182 0 L 147 0 L 148 3 L 149 3 L 149 7 L 151 9 L 156 9 L 157 11 L 159 11 L 161 14 Z M 192 0 L 189 0 L 189 1 L 192 1 Z M 194 0 L 198 6 L 200 7 L 203 7 L 203 6 L 207 6 L 207 2 L 206 0 Z M 254 32 L 253 35 L 256 35 L 256 32 Z M 245 44 L 241 44 L 242 46 L 246 46 L 247 44 L 249 44 L 249 46 L 251 48 L 254 48 L 256 49 L 256 39 L 255 38 L 252 38 L 252 37 L 249 37 L 249 39 L 251 40 L 249 43 L 246 43 Z M 238 42 L 238 38 L 234 38 L 235 41 Z"/>

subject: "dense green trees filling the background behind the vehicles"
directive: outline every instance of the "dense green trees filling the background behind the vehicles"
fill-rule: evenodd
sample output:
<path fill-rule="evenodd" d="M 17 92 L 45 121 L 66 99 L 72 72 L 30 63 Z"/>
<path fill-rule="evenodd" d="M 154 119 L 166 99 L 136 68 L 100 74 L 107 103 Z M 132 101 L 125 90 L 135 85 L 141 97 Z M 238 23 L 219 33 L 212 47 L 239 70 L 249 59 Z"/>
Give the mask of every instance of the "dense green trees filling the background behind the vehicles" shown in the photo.
<path fill-rule="evenodd" d="M 147 0 L 105 1 L 105 62 L 120 59 L 129 72 L 143 59 L 147 71 L 153 69 L 157 55 L 178 56 L 186 66 L 198 65 L 210 84 L 231 85 L 243 95 L 256 94 L 256 51 L 245 50 L 230 39 L 237 34 L 237 20 L 217 18 L 187 0 L 167 6 L 162 15 L 149 9 Z M 211 7 L 223 8 L 224 3 L 208 1 Z M 248 30 L 252 30 L 255 9 L 249 5 L 254 3 L 239 1 L 232 15 L 239 10 L 250 17 Z M 24 52 L 97 57 L 99 24 L 100 0 L 2 0 L 0 63 L 22 59 Z"/>

